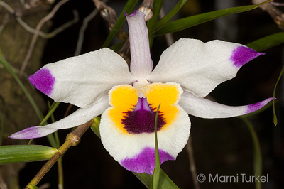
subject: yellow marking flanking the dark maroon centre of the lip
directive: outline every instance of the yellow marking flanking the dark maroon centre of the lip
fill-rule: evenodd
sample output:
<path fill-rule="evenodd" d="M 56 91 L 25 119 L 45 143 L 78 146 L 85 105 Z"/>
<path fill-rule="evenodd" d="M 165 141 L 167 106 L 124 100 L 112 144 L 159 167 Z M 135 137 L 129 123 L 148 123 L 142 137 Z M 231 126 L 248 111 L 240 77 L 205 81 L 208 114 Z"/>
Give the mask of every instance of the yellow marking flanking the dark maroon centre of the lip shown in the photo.
<path fill-rule="evenodd" d="M 160 106 L 160 112 L 163 112 L 165 125 L 163 129 L 170 126 L 179 111 L 175 104 L 178 103 L 182 90 L 176 83 L 152 83 L 144 87 L 148 104 L 155 111 Z M 139 90 L 131 85 L 118 85 L 109 92 L 109 103 L 112 108 L 108 109 L 107 115 L 113 122 L 114 128 L 121 134 L 129 134 L 122 124 L 122 120 L 127 116 L 126 112 L 131 112 L 138 102 Z"/>

